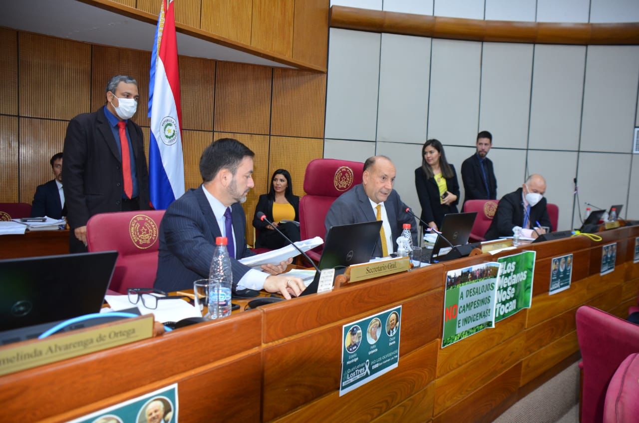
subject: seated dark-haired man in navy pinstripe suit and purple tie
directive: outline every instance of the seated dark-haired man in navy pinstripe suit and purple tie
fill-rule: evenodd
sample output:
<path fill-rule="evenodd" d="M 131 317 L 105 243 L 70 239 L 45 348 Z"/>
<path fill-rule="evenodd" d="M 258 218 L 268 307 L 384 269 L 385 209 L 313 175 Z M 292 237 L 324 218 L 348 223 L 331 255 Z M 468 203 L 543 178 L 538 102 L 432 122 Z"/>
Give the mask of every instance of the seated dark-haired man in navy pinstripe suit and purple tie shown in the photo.
<path fill-rule="evenodd" d="M 262 266 L 265 272 L 238 261 L 254 254 L 246 245 L 246 217 L 240 204 L 254 187 L 253 156 L 247 146 L 231 138 L 219 139 L 204 150 L 199 162 L 204 183 L 176 199 L 164 213 L 153 288 L 189 289 L 197 279 L 208 278 L 215 238 L 226 236 L 234 291 L 265 289 L 291 298 L 304 290 L 302 279 L 279 275 L 292 259 Z"/>

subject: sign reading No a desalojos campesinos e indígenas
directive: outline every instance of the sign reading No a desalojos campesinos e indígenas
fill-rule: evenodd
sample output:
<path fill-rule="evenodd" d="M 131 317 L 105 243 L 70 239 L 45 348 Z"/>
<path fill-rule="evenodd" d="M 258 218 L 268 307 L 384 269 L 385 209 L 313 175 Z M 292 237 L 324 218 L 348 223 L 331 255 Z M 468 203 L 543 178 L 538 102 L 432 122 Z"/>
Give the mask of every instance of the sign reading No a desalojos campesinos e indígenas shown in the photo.
<path fill-rule="evenodd" d="M 450 270 L 444 291 L 442 348 L 495 326 L 495 262 Z"/>

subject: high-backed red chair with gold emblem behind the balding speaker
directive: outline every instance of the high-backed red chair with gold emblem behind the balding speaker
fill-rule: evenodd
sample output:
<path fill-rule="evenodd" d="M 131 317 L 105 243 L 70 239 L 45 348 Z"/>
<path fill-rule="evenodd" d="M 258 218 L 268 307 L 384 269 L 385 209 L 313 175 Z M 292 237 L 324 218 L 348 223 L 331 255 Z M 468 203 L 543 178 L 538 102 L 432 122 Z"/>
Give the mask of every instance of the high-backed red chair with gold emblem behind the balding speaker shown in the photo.
<path fill-rule="evenodd" d="M 300 199 L 300 236 L 302 240 L 319 236 L 325 239 L 324 220 L 333 201 L 344 192 L 362 183 L 364 163 L 317 158 L 312 160 L 304 174 L 304 191 Z M 307 254 L 319 261 L 322 246 Z"/>

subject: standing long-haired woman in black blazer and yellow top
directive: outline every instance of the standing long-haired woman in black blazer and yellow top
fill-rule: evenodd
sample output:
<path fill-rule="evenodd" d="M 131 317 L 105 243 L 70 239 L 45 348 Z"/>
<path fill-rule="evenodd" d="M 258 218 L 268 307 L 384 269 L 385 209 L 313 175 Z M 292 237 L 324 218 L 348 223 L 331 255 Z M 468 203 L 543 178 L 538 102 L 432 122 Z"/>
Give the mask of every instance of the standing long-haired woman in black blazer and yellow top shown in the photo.
<path fill-rule="evenodd" d="M 439 230 L 443 215 L 459 213 L 457 174 L 436 139 L 429 139 L 422 147 L 422 165 L 415 169 L 415 188 L 422 205 L 421 218 L 429 227 Z"/>

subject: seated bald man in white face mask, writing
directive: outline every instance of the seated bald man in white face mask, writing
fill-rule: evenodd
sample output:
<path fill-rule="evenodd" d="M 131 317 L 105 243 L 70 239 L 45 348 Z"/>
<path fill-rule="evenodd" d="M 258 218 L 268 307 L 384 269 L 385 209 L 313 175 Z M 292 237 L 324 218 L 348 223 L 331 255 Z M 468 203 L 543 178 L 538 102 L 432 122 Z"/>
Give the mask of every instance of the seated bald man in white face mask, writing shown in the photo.
<path fill-rule="evenodd" d="M 526 182 L 516 191 L 506 194 L 499 200 L 497 212 L 490 224 L 486 240 L 495 240 L 500 236 L 512 236 L 514 227 L 521 227 L 521 235 L 537 238 L 546 233 L 541 226 L 553 228 L 546 210 L 546 180 L 540 174 L 528 176 Z M 533 229 L 534 228 L 534 229 Z"/>

